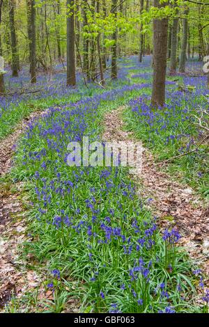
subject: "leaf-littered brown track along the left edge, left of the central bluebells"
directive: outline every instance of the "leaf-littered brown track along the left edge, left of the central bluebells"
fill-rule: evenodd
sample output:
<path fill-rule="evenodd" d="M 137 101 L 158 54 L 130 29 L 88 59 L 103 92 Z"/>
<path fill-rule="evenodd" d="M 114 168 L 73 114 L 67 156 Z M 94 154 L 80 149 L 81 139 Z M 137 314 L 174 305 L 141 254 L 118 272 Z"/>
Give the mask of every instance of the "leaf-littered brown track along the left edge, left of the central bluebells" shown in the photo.
<path fill-rule="evenodd" d="M 9 173 L 18 138 L 26 127 L 47 111 L 31 113 L 15 127 L 3 141 L 0 141 L 0 177 Z M 0 182 L 0 311 L 9 301 L 11 294 L 20 296 L 26 290 L 37 287 L 40 278 L 34 271 L 28 271 L 20 262 L 17 247 L 29 239 L 26 235 L 26 207 L 29 199 L 22 196 L 23 183 Z M 24 203 L 24 206 L 23 206 Z"/>

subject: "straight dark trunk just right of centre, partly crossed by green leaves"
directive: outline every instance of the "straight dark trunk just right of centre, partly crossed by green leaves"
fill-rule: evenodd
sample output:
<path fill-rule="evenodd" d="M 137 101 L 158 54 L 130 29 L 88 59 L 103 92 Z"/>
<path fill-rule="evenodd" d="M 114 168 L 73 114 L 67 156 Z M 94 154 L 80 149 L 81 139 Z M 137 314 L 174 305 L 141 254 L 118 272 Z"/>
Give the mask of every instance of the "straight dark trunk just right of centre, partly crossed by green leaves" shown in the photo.
<path fill-rule="evenodd" d="M 118 0 L 112 0 L 111 4 L 111 12 L 115 15 L 117 15 L 117 3 Z M 118 78 L 118 67 L 117 67 L 117 29 L 115 29 L 113 33 L 113 40 L 114 45 L 111 47 L 111 79 L 117 79 Z"/>

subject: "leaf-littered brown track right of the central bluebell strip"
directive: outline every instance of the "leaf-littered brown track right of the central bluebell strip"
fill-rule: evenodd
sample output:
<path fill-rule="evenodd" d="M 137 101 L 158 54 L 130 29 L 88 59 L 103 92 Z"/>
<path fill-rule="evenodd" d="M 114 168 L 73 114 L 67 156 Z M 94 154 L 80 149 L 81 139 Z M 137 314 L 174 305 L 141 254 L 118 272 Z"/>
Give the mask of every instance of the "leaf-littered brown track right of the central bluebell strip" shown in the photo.
<path fill-rule="evenodd" d="M 121 106 L 104 118 L 104 141 L 130 141 L 131 132 L 123 130 Z M 194 191 L 178 184 L 171 176 L 157 169 L 152 155 L 144 150 L 142 170 L 131 170 L 132 177 L 139 185 L 139 196 L 148 199 L 148 207 L 159 216 L 161 228 L 176 225 L 187 248 L 189 256 L 201 264 L 209 276 L 209 209 Z M 209 280 L 206 281 L 209 285 Z"/>

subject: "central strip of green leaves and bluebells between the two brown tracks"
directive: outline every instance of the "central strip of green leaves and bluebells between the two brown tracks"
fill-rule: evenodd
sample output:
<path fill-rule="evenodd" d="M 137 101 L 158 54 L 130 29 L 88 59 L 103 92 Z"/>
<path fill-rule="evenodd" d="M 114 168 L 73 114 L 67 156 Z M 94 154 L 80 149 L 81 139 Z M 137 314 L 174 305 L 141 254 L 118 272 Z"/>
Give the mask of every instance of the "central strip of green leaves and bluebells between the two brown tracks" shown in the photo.
<path fill-rule="evenodd" d="M 85 134 L 91 138 L 101 135 L 104 113 L 143 92 L 114 94 L 114 99 L 100 101 L 94 115 L 92 106 L 81 107 L 82 115 L 77 112 L 70 118 L 72 134 L 79 131 L 84 115 L 88 122 Z M 32 241 L 25 244 L 24 255 L 30 253 L 36 258 L 40 271 L 45 266 L 42 285 L 46 290 L 53 285 L 54 299 L 38 301 L 36 292 L 28 293 L 21 299 L 13 298 L 7 312 L 63 312 L 68 310 L 70 297 L 79 300 L 81 312 L 158 312 L 165 308 L 201 312 L 203 308 L 195 305 L 192 264 L 183 250 L 164 241 L 160 230 L 155 229 L 155 220 L 135 193 L 127 169 L 70 168 L 63 161 L 68 131 L 42 136 L 54 122 L 63 125 L 63 117 L 64 112 L 54 112 L 33 127 L 29 140 L 22 138 L 12 173 L 15 180 L 27 183 L 33 202 L 28 220 Z M 47 146 L 49 137 L 58 142 L 61 152 Z M 47 151 L 47 168 L 42 166 L 44 158 L 31 155 L 42 148 Z M 72 183 L 70 189 L 68 181 Z M 46 204 L 45 196 L 50 197 Z M 66 217 L 72 217 L 70 225 Z M 111 232 L 108 236 L 102 224 L 112 231 L 118 228 L 119 234 Z M 141 246 L 139 239 L 144 239 Z M 130 271 L 140 262 L 141 271 L 135 270 L 132 279 Z M 54 269 L 56 272 L 51 273 Z"/>

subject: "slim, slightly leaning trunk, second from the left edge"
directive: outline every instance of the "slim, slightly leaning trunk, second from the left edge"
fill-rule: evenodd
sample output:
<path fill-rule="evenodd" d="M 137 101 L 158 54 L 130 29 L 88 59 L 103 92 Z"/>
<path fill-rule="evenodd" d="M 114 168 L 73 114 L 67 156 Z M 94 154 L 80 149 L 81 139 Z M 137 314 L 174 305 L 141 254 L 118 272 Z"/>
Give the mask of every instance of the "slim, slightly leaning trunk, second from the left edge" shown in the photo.
<path fill-rule="evenodd" d="M 13 77 L 18 77 L 18 52 L 17 52 L 17 36 L 15 30 L 15 0 L 9 0 L 9 19 L 10 19 L 10 35 L 12 48 L 12 71 Z"/>

